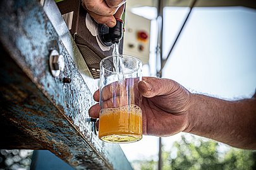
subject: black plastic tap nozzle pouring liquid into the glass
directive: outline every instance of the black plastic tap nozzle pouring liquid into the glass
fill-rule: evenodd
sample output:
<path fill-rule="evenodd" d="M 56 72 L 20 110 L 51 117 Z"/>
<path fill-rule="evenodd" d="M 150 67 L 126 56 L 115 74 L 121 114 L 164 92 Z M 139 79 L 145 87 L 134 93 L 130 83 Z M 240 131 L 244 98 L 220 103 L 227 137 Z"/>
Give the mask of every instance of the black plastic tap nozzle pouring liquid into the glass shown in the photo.
<path fill-rule="evenodd" d="M 116 25 L 109 28 L 106 25 L 99 25 L 99 38 L 106 46 L 111 46 L 113 43 L 119 43 L 123 37 L 123 21 L 116 18 Z"/>

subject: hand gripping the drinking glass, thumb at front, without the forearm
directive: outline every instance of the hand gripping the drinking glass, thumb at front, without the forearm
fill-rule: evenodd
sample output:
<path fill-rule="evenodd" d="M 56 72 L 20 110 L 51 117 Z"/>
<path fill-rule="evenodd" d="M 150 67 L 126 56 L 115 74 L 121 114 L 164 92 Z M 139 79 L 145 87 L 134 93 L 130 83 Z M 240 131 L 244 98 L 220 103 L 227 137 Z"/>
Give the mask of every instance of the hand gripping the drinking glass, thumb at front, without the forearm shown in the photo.
<path fill-rule="evenodd" d="M 183 86 L 170 79 L 143 77 L 138 82 L 142 94 L 143 134 L 169 136 L 188 127 L 188 110 L 192 94 Z M 99 101 L 99 90 L 94 93 Z M 92 106 L 89 115 L 99 118 L 99 103 Z"/>

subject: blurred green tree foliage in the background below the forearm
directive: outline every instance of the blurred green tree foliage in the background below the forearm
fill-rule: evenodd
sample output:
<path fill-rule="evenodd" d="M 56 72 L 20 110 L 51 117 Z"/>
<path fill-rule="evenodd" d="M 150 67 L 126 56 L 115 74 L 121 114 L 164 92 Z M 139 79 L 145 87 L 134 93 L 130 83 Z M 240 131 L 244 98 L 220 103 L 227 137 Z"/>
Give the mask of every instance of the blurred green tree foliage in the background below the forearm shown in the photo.
<path fill-rule="evenodd" d="M 171 150 L 162 150 L 162 169 L 250 170 L 256 166 L 255 157 L 255 152 L 251 150 L 233 147 L 223 150 L 219 143 L 212 140 L 193 135 L 188 140 L 182 136 L 179 142 L 174 142 Z M 135 169 L 157 169 L 157 161 L 140 161 Z"/>

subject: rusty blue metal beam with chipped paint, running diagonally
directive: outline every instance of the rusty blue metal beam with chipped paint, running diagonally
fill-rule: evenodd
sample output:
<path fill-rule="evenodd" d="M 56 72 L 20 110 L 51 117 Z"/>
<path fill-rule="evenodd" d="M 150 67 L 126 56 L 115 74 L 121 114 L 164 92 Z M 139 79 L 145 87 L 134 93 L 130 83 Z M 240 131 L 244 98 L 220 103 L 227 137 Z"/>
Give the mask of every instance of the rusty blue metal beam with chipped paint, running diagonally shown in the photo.
<path fill-rule="evenodd" d="M 85 122 L 92 92 L 39 2 L 1 1 L 0 26 L 0 123 L 29 137 L 26 149 L 51 150 L 76 169 L 131 169 L 119 145 L 99 140 Z M 49 71 L 53 49 L 65 61 L 55 78 Z"/>

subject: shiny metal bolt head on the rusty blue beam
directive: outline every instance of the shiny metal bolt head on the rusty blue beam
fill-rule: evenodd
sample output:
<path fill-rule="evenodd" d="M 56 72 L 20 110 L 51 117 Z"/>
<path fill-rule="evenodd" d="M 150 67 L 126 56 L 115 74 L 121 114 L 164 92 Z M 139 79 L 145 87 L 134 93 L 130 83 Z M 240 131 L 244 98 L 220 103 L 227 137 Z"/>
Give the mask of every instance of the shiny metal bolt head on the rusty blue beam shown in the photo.
<path fill-rule="evenodd" d="M 52 76 L 58 77 L 65 66 L 63 55 L 59 55 L 57 50 L 52 50 L 49 57 L 49 64 Z"/>

